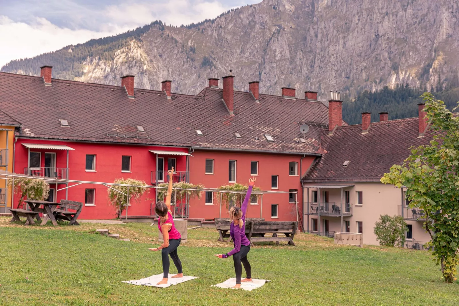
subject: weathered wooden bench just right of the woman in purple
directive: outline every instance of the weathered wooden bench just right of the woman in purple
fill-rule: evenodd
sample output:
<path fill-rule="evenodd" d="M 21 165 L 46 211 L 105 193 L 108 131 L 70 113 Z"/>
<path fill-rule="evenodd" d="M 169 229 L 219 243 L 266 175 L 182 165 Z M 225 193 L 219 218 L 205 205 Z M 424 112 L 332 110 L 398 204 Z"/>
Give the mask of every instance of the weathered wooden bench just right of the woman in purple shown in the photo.
<path fill-rule="evenodd" d="M 274 241 L 279 244 L 279 241 L 288 241 L 288 244 L 295 245 L 293 238 L 297 231 L 298 222 L 296 221 L 252 221 L 252 229 L 249 231 L 248 239 L 251 244 L 254 242 Z M 265 237 L 271 233 L 271 237 Z M 278 234 L 284 234 L 285 237 L 278 237 Z"/>

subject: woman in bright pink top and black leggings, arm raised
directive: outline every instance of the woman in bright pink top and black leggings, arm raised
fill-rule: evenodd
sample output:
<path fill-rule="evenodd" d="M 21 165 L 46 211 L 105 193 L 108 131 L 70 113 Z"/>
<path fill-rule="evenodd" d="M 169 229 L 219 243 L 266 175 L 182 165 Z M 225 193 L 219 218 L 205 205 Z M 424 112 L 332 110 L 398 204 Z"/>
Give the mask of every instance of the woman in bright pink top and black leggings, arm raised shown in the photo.
<path fill-rule="evenodd" d="M 179 231 L 175 228 L 174 219 L 172 218 L 171 212 L 171 195 L 172 195 L 172 176 L 174 175 L 174 167 L 168 171 L 169 175 L 169 186 L 168 194 L 166 196 L 166 203 L 158 201 L 155 206 L 155 212 L 159 215 L 158 229 L 162 233 L 164 242 L 157 248 L 149 249 L 151 251 L 161 250 L 162 255 L 162 281 L 157 283 L 161 285 L 168 283 L 169 275 L 169 255 L 174 261 L 177 267 L 178 274 L 174 275 L 173 278 L 183 278 L 182 263 L 180 262 L 179 255 L 177 255 L 177 248 L 180 245 L 181 236 Z"/>

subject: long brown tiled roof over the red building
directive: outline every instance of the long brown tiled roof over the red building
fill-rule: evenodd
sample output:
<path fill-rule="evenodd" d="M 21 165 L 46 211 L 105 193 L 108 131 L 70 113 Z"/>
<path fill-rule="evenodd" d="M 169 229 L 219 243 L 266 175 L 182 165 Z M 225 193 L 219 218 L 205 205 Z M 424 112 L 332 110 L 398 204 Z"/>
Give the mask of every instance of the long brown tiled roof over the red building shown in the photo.
<path fill-rule="evenodd" d="M 230 116 L 221 89 L 206 88 L 198 96 L 173 93 L 170 100 L 162 91 L 135 89 L 134 96 L 129 99 L 120 86 L 58 79 L 45 86 L 39 77 L 0 73 L 0 109 L 22 124 L 22 137 L 316 153 L 320 129 L 328 124 L 327 107 L 304 99 L 260 94 L 257 103 L 250 93 L 235 91 Z M 299 141 L 304 123 L 310 126 L 306 143 Z"/>

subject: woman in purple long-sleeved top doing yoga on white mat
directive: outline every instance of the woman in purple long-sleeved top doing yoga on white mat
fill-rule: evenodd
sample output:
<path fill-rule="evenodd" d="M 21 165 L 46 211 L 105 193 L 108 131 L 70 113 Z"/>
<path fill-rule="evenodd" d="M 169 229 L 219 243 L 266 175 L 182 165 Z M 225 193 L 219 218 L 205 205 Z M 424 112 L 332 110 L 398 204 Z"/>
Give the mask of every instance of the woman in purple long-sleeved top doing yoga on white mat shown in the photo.
<path fill-rule="evenodd" d="M 241 288 L 241 282 L 252 282 L 250 263 L 247 260 L 247 254 L 250 251 L 250 241 L 246 237 L 246 211 L 255 180 L 255 176 L 249 179 L 249 189 L 247 190 L 246 198 L 244 198 L 241 208 L 234 206 L 229 210 L 229 220 L 231 220 L 229 235 L 233 238 L 234 249 L 226 254 L 215 254 L 218 258 L 228 258 L 233 255 L 234 269 L 236 271 L 236 285 L 233 288 Z M 247 277 L 243 280 L 241 280 L 241 262 L 247 274 Z"/>

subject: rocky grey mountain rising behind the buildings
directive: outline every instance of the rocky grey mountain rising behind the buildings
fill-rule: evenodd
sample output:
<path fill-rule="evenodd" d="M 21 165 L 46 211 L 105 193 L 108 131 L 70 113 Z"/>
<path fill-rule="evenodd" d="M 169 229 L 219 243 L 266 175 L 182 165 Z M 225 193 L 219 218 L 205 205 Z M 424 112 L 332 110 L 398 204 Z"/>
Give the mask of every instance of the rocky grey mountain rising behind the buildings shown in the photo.
<path fill-rule="evenodd" d="M 365 90 L 408 84 L 459 87 L 457 0 L 263 0 L 213 20 L 182 27 L 161 22 L 121 35 L 70 45 L 2 71 L 196 94 L 209 77 L 229 74 L 235 88 L 260 81 L 260 92 L 283 86 L 355 97 Z"/>

